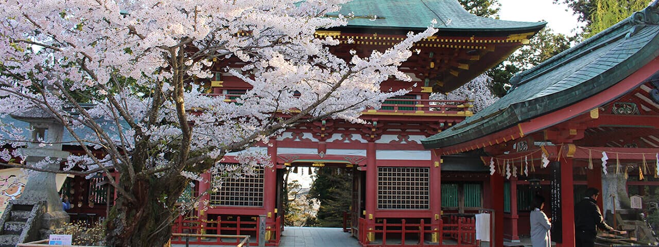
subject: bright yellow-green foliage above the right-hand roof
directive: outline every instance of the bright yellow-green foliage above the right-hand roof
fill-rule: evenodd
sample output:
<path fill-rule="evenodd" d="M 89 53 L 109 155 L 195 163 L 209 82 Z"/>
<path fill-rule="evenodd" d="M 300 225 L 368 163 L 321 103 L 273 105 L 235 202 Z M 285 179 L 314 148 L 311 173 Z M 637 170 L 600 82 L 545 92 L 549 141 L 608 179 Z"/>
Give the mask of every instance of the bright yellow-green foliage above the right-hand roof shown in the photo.
<path fill-rule="evenodd" d="M 648 6 L 648 0 L 591 0 L 590 22 L 582 34 L 583 38 L 602 32 L 617 22 Z"/>

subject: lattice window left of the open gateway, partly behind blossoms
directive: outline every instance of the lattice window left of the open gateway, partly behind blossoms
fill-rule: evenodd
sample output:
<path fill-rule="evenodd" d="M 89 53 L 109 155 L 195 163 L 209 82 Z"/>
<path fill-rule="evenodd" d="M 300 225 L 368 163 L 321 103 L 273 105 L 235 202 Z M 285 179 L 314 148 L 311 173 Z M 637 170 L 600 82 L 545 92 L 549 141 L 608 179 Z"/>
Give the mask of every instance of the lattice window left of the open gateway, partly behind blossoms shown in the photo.
<path fill-rule="evenodd" d="M 263 206 L 263 169 L 253 176 L 226 178 L 217 192 L 210 194 L 215 206 Z"/>

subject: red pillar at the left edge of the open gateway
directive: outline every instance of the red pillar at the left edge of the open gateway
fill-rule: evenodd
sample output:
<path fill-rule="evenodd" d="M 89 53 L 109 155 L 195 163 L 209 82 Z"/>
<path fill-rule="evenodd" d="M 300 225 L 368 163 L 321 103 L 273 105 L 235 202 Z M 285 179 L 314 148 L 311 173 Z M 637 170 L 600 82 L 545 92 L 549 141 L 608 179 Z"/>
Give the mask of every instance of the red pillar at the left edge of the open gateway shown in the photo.
<path fill-rule="evenodd" d="M 268 155 L 270 155 L 270 162 L 272 167 L 264 167 L 263 174 L 263 206 L 266 211 L 266 221 L 274 222 L 275 217 L 275 204 L 277 204 L 277 139 L 270 138 L 268 146 Z"/>

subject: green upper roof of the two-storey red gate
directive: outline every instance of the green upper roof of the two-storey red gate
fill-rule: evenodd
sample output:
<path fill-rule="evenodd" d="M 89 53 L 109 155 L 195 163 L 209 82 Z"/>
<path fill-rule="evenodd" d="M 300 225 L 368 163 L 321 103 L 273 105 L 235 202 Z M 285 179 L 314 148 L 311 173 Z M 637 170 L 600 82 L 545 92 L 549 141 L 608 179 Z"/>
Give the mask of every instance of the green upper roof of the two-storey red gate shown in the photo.
<path fill-rule="evenodd" d="M 435 27 L 440 32 L 537 31 L 546 24 L 475 16 L 465 11 L 457 0 L 353 0 L 343 5 L 339 13 L 353 13 L 357 17 L 349 21 L 349 28 L 425 29 L 432 19 L 437 20 Z"/>

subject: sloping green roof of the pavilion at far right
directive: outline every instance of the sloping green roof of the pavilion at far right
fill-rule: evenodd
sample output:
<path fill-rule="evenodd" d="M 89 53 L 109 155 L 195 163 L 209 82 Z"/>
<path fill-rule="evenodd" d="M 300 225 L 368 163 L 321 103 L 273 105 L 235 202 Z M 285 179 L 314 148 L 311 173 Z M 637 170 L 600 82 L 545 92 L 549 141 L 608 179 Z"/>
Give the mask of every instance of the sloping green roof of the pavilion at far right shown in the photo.
<path fill-rule="evenodd" d="M 602 92 L 659 57 L 659 10 L 643 11 L 511 79 L 508 94 L 473 117 L 422 140 L 425 148 L 468 142 Z"/>

